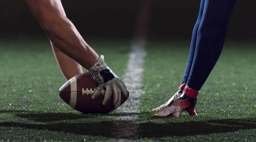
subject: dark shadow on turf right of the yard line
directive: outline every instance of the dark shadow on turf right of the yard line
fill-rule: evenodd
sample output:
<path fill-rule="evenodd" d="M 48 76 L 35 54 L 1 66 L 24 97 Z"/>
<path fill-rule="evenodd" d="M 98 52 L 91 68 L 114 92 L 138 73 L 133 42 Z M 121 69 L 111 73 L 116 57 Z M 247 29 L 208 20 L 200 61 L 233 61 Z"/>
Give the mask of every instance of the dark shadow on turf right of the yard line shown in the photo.
<path fill-rule="evenodd" d="M 191 136 L 226 133 L 256 128 L 256 117 L 246 119 L 207 120 L 185 123 L 141 124 L 141 137 Z"/>

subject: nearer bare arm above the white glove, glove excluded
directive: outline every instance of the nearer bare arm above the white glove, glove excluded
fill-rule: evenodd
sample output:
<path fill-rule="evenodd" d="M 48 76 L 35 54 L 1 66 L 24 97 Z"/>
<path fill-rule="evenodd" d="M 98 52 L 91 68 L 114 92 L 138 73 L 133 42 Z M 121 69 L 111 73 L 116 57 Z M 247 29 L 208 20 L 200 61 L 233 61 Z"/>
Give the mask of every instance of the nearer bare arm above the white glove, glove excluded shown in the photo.
<path fill-rule="evenodd" d="M 97 62 L 98 54 L 87 45 L 76 27 L 66 17 L 60 0 L 26 0 L 26 2 L 58 50 L 87 70 Z"/>

